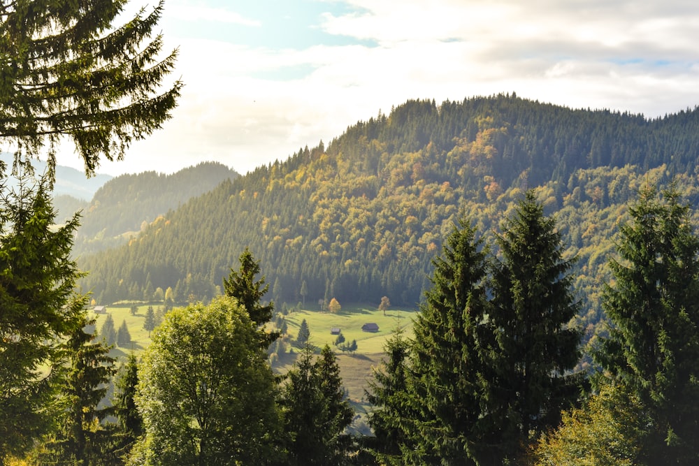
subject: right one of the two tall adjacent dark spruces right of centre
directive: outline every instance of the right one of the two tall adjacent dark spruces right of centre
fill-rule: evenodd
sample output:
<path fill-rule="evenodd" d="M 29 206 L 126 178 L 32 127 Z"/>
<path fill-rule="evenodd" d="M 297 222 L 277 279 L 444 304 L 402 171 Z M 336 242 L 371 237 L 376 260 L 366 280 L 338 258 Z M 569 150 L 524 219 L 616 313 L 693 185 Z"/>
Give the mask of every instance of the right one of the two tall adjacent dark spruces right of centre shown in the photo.
<path fill-rule="evenodd" d="M 533 190 L 526 192 L 503 233 L 502 260 L 494 265 L 489 325 L 496 335 L 488 412 L 502 436 L 503 458 L 514 460 L 540 432 L 559 423 L 579 395 L 581 379 L 568 375 L 579 361 L 581 333 L 572 261 L 563 259 L 555 220 L 545 217 Z"/>

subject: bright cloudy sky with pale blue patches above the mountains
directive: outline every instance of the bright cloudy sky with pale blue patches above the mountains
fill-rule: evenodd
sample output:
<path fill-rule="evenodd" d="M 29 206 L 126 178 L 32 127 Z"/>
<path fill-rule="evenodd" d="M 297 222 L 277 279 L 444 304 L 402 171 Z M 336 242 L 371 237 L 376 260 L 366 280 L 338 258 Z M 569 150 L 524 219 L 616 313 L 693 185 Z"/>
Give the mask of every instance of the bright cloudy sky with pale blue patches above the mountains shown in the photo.
<path fill-rule="evenodd" d="M 699 105 L 696 0 L 166 0 L 159 26 L 179 48 L 178 108 L 99 173 L 244 174 L 408 99 L 516 92 L 649 118 Z M 59 164 L 82 168 L 70 150 Z"/>

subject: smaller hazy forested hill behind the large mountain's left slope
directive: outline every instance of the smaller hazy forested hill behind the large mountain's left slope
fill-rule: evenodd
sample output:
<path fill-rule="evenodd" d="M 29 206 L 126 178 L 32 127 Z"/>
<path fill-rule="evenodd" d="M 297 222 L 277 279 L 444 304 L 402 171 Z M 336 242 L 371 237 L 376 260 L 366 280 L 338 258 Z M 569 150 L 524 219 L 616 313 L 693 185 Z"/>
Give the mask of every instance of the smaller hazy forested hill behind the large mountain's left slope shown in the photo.
<path fill-rule="evenodd" d="M 121 245 L 122 235 L 135 235 L 157 216 L 235 177 L 235 170 L 218 162 L 199 163 L 171 175 L 154 171 L 120 175 L 103 184 L 85 205 L 73 203 L 76 208 L 70 210 L 69 199 L 59 198 L 57 206 L 62 217 L 82 209 L 73 247 L 79 256 Z"/>

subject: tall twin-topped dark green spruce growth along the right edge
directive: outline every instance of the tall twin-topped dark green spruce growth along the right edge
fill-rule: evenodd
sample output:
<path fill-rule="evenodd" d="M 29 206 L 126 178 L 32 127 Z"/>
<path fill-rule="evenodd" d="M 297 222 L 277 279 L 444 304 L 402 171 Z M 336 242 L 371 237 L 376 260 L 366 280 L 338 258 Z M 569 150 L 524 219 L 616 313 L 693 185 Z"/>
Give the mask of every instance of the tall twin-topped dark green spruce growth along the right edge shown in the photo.
<path fill-rule="evenodd" d="M 664 202 L 663 202 L 664 201 Z M 636 396 L 652 421 L 643 450 L 648 464 L 699 461 L 699 238 L 691 207 L 674 186 L 658 199 L 644 187 L 620 228 L 619 260 L 603 308 L 609 337 L 596 360 L 612 384 Z"/>

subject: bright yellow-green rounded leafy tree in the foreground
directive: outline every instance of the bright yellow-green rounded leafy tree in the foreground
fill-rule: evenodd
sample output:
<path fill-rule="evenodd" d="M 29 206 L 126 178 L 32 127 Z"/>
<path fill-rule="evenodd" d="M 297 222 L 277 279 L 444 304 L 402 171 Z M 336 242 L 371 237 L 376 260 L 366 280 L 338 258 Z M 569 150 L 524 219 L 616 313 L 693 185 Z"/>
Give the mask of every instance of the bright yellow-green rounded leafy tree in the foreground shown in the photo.
<path fill-rule="evenodd" d="M 131 463 L 265 464 L 277 449 L 275 381 L 245 308 L 231 298 L 175 308 L 143 354 Z"/>

